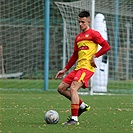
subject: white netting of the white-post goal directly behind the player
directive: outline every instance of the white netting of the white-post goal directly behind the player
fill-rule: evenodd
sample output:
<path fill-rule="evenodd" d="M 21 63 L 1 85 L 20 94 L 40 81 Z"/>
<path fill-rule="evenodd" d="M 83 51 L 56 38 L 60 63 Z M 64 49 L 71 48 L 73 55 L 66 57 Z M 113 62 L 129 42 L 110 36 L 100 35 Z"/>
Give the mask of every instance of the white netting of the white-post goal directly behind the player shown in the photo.
<path fill-rule="evenodd" d="M 75 36 L 80 32 L 77 15 L 81 10 L 91 10 L 90 0 L 80 0 L 75 2 L 55 2 L 63 19 L 64 38 L 63 47 L 66 54 L 63 56 L 65 62 L 73 52 Z M 112 84 L 109 88 L 121 86 L 123 90 L 132 89 L 133 83 L 133 2 L 121 0 L 117 1 L 95 1 L 95 15 L 101 13 L 105 16 L 107 26 L 108 42 L 111 51 L 108 53 L 109 68 L 108 80 Z M 99 75 L 96 80 L 104 80 L 104 75 Z M 124 82 L 126 81 L 126 82 Z M 102 82 L 102 81 L 101 81 Z"/>

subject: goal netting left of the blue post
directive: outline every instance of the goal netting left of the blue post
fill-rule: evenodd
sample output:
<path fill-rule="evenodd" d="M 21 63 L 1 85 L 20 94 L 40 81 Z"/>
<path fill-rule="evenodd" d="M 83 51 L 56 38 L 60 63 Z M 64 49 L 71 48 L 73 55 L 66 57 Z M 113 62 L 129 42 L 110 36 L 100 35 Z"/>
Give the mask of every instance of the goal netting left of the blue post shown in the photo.
<path fill-rule="evenodd" d="M 0 78 L 23 78 L 10 88 L 40 88 L 44 66 L 44 2 L 42 0 L 0 1 Z M 30 82 L 30 79 L 35 79 Z"/>

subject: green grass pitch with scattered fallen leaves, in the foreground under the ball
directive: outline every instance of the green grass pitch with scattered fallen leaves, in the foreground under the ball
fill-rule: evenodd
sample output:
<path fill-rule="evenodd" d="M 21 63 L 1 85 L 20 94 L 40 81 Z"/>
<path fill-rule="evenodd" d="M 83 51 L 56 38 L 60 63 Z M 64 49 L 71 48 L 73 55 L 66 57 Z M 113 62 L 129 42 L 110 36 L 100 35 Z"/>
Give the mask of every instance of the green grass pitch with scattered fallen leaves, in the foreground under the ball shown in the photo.
<path fill-rule="evenodd" d="M 58 83 L 50 85 L 55 87 Z M 2 133 L 131 133 L 133 94 L 80 97 L 91 106 L 79 117 L 79 126 L 61 124 L 70 115 L 70 102 L 56 91 L 12 91 L 0 93 L 0 132 Z M 54 109 L 59 123 L 46 124 L 44 114 Z"/>

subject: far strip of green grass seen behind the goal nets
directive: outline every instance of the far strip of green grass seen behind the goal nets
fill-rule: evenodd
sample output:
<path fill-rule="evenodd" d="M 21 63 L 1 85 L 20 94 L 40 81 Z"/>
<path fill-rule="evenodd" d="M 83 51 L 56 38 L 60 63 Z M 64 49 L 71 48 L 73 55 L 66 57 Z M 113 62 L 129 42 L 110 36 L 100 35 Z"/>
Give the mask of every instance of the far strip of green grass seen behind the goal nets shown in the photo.
<path fill-rule="evenodd" d="M 49 89 L 56 90 L 57 86 L 61 80 L 49 80 Z M 44 90 L 44 80 L 28 80 L 28 79 L 1 79 L 0 85 L 9 90 Z M 1 87 L 1 88 L 2 88 Z M 133 81 L 129 80 L 109 80 L 108 82 L 108 91 L 117 91 L 124 93 L 133 93 Z"/>

